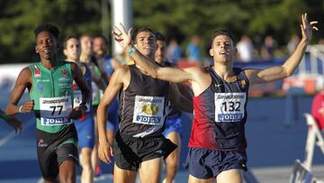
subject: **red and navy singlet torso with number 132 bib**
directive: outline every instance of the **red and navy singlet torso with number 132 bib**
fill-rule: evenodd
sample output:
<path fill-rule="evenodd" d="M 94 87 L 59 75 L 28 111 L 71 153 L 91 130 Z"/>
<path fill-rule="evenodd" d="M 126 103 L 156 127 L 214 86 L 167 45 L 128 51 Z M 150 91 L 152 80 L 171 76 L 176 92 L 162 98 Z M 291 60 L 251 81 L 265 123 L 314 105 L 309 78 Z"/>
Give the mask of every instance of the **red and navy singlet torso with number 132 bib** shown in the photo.
<path fill-rule="evenodd" d="M 211 86 L 193 98 L 193 128 L 189 147 L 221 151 L 245 151 L 248 79 L 234 69 L 237 80 L 226 82 L 213 69 Z"/>

